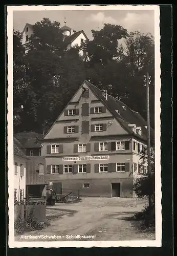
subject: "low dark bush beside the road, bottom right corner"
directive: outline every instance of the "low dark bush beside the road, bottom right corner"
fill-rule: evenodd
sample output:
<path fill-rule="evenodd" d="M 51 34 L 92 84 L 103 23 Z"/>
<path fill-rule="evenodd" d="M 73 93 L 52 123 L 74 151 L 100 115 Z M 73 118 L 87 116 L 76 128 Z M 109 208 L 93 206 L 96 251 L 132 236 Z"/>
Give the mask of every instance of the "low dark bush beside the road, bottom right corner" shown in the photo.
<path fill-rule="evenodd" d="M 145 206 L 144 209 L 135 214 L 135 219 L 140 221 L 140 227 L 142 229 L 153 229 L 155 228 L 155 207 Z"/>

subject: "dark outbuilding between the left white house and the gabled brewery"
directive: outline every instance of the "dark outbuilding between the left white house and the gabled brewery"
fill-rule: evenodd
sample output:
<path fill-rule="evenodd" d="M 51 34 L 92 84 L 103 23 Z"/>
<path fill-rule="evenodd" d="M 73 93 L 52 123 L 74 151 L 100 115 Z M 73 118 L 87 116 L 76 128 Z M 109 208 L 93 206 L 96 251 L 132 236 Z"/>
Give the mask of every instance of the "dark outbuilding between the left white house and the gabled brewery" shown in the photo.
<path fill-rule="evenodd" d="M 41 142 L 39 141 L 43 135 L 23 132 L 15 136 L 23 144 L 29 159 L 26 164 L 26 197 L 46 197 L 46 163 L 45 157 L 40 156 Z"/>

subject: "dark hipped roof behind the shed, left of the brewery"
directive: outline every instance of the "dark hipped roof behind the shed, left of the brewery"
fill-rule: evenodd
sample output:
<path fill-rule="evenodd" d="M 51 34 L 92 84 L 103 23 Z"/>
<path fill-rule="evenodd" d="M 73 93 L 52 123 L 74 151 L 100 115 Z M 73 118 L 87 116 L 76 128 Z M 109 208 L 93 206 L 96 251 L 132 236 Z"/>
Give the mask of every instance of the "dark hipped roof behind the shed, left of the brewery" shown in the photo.
<path fill-rule="evenodd" d="M 37 148 L 40 146 L 40 139 L 43 138 L 42 134 L 35 132 L 21 132 L 14 135 L 25 148 Z M 38 137 L 38 141 L 36 139 Z"/>

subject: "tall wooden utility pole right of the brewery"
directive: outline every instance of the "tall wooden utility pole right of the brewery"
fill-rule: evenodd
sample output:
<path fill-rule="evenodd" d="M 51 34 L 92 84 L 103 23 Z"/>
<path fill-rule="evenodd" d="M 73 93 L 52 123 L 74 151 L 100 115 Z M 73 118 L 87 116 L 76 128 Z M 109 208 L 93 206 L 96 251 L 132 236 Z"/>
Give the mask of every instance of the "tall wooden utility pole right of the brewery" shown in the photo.
<path fill-rule="evenodd" d="M 149 84 L 150 76 L 147 72 L 145 76 L 145 86 L 146 86 L 146 106 L 147 106 L 147 173 L 149 177 L 151 176 L 151 161 L 150 161 L 150 111 L 149 111 Z M 149 207 L 152 206 L 152 197 L 149 195 Z"/>

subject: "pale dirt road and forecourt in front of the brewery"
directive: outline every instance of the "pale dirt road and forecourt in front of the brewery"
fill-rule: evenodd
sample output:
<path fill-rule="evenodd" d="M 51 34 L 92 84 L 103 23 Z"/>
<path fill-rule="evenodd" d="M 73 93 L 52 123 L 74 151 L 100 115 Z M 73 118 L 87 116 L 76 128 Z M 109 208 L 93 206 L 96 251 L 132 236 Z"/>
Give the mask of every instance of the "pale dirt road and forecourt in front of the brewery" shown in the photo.
<path fill-rule="evenodd" d="M 123 198 L 82 198 L 79 203 L 56 204 L 47 207 L 49 227 L 24 235 L 47 235 L 48 239 L 45 241 L 88 240 L 83 237 L 77 239 L 77 235 L 92 236 L 90 241 L 153 240 L 154 234 L 140 232 L 136 221 L 132 219 L 135 212 L 143 209 L 145 203 L 146 201 L 142 200 Z M 59 239 L 49 238 L 50 236 L 59 236 Z M 19 236 L 15 240 L 22 241 Z"/>

